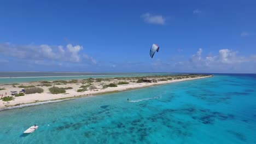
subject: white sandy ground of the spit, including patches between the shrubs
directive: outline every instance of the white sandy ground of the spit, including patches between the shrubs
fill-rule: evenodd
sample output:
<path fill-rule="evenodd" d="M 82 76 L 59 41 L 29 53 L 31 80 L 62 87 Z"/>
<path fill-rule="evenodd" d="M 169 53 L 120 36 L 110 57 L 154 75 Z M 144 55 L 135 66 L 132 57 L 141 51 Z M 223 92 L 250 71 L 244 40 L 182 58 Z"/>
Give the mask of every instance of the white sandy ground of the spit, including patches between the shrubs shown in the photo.
<path fill-rule="evenodd" d="M 49 91 L 50 87 L 41 86 L 41 88 L 44 89 L 43 93 L 25 94 L 25 96 L 15 97 L 15 99 L 11 100 L 11 101 L 2 101 L 1 100 L 0 109 L 4 109 L 6 107 L 11 107 L 11 106 L 19 105 L 19 104 L 22 105 L 22 104 L 38 103 L 40 101 L 86 97 L 89 95 L 97 95 L 97 94 L 106 93 L 106 92 L 126 91 L 129 89 L 149 87 L 149 86 L 154 86 L 154 85 L 162 85 L 165 83 L 172 83 L 172 82 L 179 82 L 179 81 L 202 79 L 205 77 L 210 77 L 210 76 L 201 76 L 201 77 L 186 78 L 186 79 L 179 79 L 179 80 L 158 81 L 155 83 L 130 82 L 129 84 L 126 84 L 126 85 L 118 85 L 118 87 L 108 87 L 105 89 L 103 89 L 102 86 L 100 85 L 100 83 L 98 82 L 98 83 L 94 83 L 94 85 L 97 87 L 97 89 L 88 90 L 85 92 L 77 92 L 77 89 L 79 89 L 79 87 L 83 85 L 82 83 L 67 83 L 65 85 L 57 85 L 57 87 L 63 87 L 63 88 L 64 87 L 72 87 L 73 88 L 73 89 L 67 89 L 65 94 L 51 94 Z M 115 83 L 115 82 L 118 82 L 118 80 L 112 79 L 111 81 L 108 81 L 107 83 Z M 38 83 L 39 82 L 22 83 L 22 85 L 36 85 Z M 4 85 L 4 86 L 1 86 L 1 88 L 5 88 L 4 90 L 0 91 L 0 94 L 3 94 L 4 96 L 5 96 L 5 92 L 7 92 L 7 96 L 10 96 L 10 91 L 18 91 L 19 92 L 22 89 L 22 88 L 18 88 L 18 87 L 13 87 L 11 85 Z"/>

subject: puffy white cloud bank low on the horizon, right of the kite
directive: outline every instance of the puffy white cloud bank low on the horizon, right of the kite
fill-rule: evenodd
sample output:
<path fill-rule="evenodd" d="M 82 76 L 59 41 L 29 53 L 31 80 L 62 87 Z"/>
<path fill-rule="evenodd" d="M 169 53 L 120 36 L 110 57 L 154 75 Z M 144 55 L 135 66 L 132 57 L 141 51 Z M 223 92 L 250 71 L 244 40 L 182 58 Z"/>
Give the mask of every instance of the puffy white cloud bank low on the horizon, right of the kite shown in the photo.
<path fill-rule="evenodd" d="M 166 69 L 176 72 L 195 73 L 256 73 L 256 55 L 240 56 L 238 51 L 220 49 L 216 55 L 203 55 L 199 49 L 189 61 L 165 63 Z M 164 64 L 162 64 L 164 65 Z M 165 70 L 166 70 L 165 69 Z"/>

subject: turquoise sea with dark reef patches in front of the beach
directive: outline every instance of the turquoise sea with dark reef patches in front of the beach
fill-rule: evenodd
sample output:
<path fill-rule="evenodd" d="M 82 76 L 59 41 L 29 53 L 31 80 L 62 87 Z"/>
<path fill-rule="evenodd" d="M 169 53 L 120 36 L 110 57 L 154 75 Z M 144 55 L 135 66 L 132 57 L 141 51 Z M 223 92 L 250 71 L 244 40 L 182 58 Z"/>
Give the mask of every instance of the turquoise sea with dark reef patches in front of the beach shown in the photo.
<path fill-rule="evenodd" d="M 170 83 L 0 112 L 1 143 L 256 143 L 256 75 Z M 127 98 L 130 103 L 127 103 Z M 22 134 L 36 123 L 32 134 Z"/>

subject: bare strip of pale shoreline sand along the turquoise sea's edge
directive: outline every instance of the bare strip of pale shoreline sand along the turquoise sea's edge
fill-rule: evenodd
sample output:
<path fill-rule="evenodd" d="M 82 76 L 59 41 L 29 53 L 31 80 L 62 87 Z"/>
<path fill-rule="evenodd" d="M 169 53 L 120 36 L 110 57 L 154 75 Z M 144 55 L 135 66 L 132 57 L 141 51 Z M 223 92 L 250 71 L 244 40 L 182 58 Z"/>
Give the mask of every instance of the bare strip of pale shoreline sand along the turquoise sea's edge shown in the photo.
<path fill-rule="evenodd" d="M 47 92 L 46 93 L 26 94 L 25 96 L 22 96 L 22 97 L 15 97 L 15 100 L 2 101 L 0 103 L 0 111 L 9 110 L 9 109 L 17 109 L 17 108 L 33 106 L 33 105 L 56 103 L 56 102 L 60 102 L 63 100 L 71 100 L 71 99 L 82 98 L 82 97 L 94 97 L 97 95 L 130 91 L 133 89 L 164 85 L 167 83 L 203 79 L 203 78 L 212 77 L 212 76 L 213 75 L 207 75 L 207 76 L 185 78 L 185 79 L 179 79 L 179 80 L 159 81 L 156 83 L 132 83 L 130 85 L 118 85 L 118 87 L 109 87 L 106 89 L 98 89 L 97 91 L 85 91 L 82 93 L 75 93 L 75 92 L 72 93 L 71 90 L 67 90 L 67 93 L 65 93 L 65 94 L 51 94 L 51 93 L 47 93 Z M 24 83 L 22 83 L 22 84 L 24 84 Z"/>

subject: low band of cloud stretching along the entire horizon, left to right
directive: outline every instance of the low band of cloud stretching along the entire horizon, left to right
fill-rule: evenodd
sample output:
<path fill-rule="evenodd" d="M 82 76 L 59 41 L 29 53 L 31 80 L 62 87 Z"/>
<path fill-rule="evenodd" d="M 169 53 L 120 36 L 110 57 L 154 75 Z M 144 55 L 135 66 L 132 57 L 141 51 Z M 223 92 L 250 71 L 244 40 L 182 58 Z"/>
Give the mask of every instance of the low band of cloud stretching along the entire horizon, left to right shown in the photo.
<path fill-rule="evenodd" d="M 177 57 L 172 59 L 156 58 L 151 62 L 97 62 L 95 58 L 85 53 L 83 46 L 67 44 L 66 46 L 16 45 L 0 44 L 0 63 L 10 63 L 19 68 L 22 62 L 24 67 L 42 66 L 44 68 L 63 67 L 66 71 L 134 71 L 134 72 L 175 72 L 175 73 L 255 73 L 256 55 L 240 56 L 238 51 L 220 49 L 217 55 L 203 55 L 200 48 L 189 57 L 184 57 L 183 49 L 178 49 Z M 5 57 L 5 58 L 3 58 Z M 182 58 L 181 58 L 182 57 Z M 27 66 L 26 66 L 27 65 Z M 90 69 L 88 68 L 90 66 Z M 143 69 L 142 69 L 143 68 Z M 16 70 L 20 69 L 8 69 Z M 4 71 L 2 69 L 2 71 Z M 59 69 L 62 70 L 62 69 Z M 46 70 L 49 71 L 49 70 Z"/>

